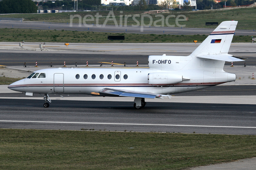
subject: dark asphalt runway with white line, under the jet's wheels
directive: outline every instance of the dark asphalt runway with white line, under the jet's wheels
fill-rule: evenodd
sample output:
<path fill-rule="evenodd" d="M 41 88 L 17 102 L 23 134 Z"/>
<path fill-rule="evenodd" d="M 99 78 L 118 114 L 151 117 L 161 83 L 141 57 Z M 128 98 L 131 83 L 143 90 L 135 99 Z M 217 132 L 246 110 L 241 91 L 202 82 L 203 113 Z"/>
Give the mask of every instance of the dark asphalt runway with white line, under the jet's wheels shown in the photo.
<path fill-rule="evenodd" d="M 256 134 L 256 105 L 0 99 L 0 128 Z"/>

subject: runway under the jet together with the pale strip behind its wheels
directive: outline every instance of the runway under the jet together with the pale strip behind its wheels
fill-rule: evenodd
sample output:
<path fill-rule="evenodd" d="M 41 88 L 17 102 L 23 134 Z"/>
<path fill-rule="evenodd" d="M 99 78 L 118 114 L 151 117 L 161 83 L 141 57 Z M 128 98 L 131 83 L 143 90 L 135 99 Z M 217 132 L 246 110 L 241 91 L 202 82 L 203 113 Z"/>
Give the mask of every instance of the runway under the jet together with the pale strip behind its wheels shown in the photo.
<path fill-rule="evenodd" d="M 50 107 L 44 108 L 40 95 L 2 93 L 0 128 L 256 134 L 255 90 L 211 87 L 171 99 L 146 99 L 140 110 L 125 97 L 51 95 Z"/>

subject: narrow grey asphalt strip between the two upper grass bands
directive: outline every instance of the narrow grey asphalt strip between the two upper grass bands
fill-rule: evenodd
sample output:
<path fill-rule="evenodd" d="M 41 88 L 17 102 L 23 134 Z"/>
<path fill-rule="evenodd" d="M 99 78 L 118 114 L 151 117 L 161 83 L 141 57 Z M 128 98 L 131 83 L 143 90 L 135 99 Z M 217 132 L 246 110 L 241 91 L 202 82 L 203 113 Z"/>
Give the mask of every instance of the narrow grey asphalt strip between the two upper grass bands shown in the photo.
<path fill-rule="evenodd" d="M 132 27 L 117 25 L 90 25 L 70 23 L 51 23 L 51 22 L 26 22 L 26 21 L 0 21 L 0 28 L 20 28 L 20 29 L 39 29 L 39 30 L 70 30 L 70 31 L 94 31 L 94 32 L 113 32 L 113 33 L 154 33 L 169 35 L 210 35 L 214 29 L 206 28 L 186 28 L 186 27 Z M 89 28 L 89 29 L 88 29 Z M 143 30 L 143 31 L 141 31 Z M 236 30 L 236 36 L 255 36 L 253 30 Z"/>

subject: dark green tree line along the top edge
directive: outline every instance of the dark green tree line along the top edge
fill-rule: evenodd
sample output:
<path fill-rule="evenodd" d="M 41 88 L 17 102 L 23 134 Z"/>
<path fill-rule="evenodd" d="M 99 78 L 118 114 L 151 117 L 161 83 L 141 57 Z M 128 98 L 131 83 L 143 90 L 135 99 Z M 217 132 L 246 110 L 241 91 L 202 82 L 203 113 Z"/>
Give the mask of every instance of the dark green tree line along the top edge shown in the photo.
<path fill-rule="evenodd" d="M 175 4 L 174 0 L 166 0 L 167 4 L 173 3 L 173 8 L 175 10 L 180 10 L 177 4 Z M 239 5 L 248 5 L 253 4 L 255 0 L 227 0 L 227 6 L 239 6 Z M 197 9 L 199 10 L 209 10 L 211 8 L 222 8 L 225 5 L 225 1 L 221 1 L 220 3 L 215 2 L 214 0 L 197 0 Z M 43 6 L 44 10 L 49 8 L 59 7 L 61 10 L 73 10 L 74 1 L 65 0 L 65 1 L 55 1 L 52 3 L 51 1 L 43 3 L 42 1 L 37 3 L 31 0 L 2 0 L 0 1 L 0 13 L 37 13 L 38 7 Z M 176 5 L 176 6 L 175 6 Z M 95 7 L 96 6 L 96 7 Z M 78 1 L 78 10 L 97 10 L 101 7 L 101 0 L 82 0 Z M 114 11 L 143 11 L 143 10 L 162 10 L 166 9 L 166 5 L 163 3 L 162 5 L 148 5 L 145 0 L 140 0 L 138 5 L 126 5 L 126 6 L 111 6 Z M 105 8 L 105 7 L 104 7 Z M 107 8 L 107 7 L 106 7 Z M 170 5 L 169 7 L 170 8 Z M 190 11 L 192 6 L 190 6 L 189 2 L 185 2 L 183 6 L 181 6 L 182 10 Z"/>

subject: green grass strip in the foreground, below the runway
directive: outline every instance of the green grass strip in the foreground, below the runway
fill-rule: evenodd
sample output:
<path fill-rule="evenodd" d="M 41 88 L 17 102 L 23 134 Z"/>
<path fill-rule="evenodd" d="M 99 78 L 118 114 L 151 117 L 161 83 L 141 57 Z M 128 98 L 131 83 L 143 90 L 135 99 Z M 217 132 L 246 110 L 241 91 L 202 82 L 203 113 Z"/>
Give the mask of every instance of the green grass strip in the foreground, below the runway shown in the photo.
<path fill-rule="evenodd" d="M 183 169 L 256 156 L 254 135 L 0 130 L 0 169 Z"/>

